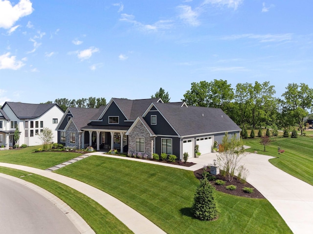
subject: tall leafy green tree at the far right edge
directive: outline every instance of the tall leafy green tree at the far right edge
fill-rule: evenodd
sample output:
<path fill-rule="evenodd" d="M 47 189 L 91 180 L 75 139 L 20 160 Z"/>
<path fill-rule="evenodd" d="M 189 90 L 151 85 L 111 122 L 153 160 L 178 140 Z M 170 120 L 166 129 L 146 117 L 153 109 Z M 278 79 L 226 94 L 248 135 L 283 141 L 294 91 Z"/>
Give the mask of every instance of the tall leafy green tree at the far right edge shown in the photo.
<path fill-rule="evenodd" d="M 304 118 L 309 114 L 308 110 L 313 109 L 313 89 L 304 83 L 292 83 L 286 89 L 282 95 L 286 101 L 285 111 L 290 121 L 298 124 L 302 135 Z"/>

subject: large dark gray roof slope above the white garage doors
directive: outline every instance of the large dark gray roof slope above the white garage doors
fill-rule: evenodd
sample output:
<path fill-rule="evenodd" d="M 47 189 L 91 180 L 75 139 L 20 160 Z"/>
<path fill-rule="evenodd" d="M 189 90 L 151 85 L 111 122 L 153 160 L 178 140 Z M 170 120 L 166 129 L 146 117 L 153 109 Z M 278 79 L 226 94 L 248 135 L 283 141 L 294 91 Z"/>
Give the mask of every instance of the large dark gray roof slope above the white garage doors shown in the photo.
<path fill-rule="evenodd" d="M 220 108 L 167 103 L 154 105 L 180 136 L 241 130 Z"/>

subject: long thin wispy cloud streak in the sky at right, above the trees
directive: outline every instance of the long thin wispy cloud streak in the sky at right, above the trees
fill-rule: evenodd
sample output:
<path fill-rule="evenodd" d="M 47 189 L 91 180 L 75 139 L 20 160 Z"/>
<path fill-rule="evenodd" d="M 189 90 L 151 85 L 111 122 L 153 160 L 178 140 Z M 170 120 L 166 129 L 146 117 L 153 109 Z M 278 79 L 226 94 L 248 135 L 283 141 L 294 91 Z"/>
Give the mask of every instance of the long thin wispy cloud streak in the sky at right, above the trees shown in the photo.
<path fill-rule="evenodd" d="M 260 41 L 261 43 L 268 43 L 268 42 L 286 42 L 291 41 L 292 34 L 285 33 L 285 34 L 265 34 L 265 35 L 258 35 L 258 34 L 240 34 L 240 35 L 231 35 L 227 37 L 223 37 L 223 40 L 238 40 L 238 39 L 255 39 Z"/>

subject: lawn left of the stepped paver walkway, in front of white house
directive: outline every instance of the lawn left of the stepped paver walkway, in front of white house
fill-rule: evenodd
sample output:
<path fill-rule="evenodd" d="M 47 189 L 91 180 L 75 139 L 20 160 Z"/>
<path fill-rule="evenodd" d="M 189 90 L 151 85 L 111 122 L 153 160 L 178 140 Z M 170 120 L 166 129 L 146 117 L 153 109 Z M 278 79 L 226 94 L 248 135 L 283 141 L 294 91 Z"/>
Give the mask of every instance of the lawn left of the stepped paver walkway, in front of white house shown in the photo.
<path fill-rule="evenodd" d="M 47 169 L 81 155 L 71 152 L 34 153 L 36 149 L 41 147 L 42 146 L 32 146 L 23 149 L 0 150 L 0 162 Z"/>

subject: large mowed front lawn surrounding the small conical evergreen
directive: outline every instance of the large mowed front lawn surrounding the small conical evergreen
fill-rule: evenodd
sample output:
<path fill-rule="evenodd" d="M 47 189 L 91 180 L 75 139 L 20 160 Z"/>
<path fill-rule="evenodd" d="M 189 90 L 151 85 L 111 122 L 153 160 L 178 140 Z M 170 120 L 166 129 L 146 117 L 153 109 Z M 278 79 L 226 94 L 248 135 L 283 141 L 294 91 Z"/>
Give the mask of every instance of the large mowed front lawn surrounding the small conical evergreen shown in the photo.
<path fill-rule="evenodd" d="M 217 192 L 221 210 L 218 220 L 195 219 L 191 206 L 199 181 L 192 171 L 90 156 L 56 173 L 108 192 L 169 234 L 291 233 L 266 199 L 249 199 L 222 192 Z"/>

